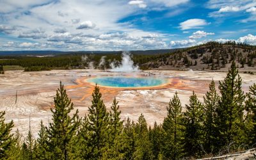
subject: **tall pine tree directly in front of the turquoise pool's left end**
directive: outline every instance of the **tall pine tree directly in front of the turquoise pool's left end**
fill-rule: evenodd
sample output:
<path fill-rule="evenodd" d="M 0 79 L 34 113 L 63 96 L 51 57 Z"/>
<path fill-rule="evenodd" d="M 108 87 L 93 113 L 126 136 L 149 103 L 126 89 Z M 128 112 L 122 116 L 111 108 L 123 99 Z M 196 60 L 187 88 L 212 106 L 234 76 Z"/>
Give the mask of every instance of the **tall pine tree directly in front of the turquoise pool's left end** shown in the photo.
<path fill-rule="evenodd" d="M 105 152 L 104 148 L 109 142 L 109 113 L 101 99 L 100 89 L 97 85 L 92 97 L 92 106 L 88 113 L 88 132 L 90 133 L 90 145 L 92 145 L 92 158 L 101 159 Z"/>

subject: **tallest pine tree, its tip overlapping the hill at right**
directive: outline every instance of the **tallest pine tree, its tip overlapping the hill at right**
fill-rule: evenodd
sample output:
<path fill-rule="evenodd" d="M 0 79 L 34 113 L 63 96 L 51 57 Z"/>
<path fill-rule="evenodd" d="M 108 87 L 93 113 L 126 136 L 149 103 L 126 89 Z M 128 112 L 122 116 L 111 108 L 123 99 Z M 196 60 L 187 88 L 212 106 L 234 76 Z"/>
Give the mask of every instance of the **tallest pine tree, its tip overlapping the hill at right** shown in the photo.
<path fill-rule="evenodd" d="M 220 108 L 217 109 L 218 141 L 220 147 L 228 144 L 239 145 L 243 141 L 244 92 L 241 89 L 242 79 L 238 74 L 236 63 L 232 61 L 227 77 L 220 81 Z"/>

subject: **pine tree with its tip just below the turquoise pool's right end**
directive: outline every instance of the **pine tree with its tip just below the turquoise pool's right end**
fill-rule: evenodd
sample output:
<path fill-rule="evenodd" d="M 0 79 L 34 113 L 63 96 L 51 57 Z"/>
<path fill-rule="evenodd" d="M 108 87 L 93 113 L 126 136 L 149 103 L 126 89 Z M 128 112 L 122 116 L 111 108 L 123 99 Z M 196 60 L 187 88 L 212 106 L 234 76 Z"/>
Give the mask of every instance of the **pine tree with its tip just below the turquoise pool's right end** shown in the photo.
<path fill-rule="evenodd" d="M 164 157 L 172 157 L 172 159 L 180 159 L 183 151 L 183 131 L 182 125 L 182 107 L 178 93 L 169 102 L 167 107 L 167 117 L 163 122 L 163 155 Z"/>

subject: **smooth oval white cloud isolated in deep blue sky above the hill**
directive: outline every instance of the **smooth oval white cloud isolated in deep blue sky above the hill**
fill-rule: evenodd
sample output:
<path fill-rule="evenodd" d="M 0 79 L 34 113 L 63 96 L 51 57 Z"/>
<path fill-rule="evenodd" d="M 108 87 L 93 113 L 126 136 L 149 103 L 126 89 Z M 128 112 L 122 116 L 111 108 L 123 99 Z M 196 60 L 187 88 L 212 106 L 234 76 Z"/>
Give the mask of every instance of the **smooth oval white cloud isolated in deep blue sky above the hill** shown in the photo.
<path fill-rule="evenodd" d="M 207 24 L 209 23 L 207 23 L 204 19 L 189 19 L 180 23 L 180 29 L 197 29 L 202 28 L 202 26 L 206 26 Z"/>

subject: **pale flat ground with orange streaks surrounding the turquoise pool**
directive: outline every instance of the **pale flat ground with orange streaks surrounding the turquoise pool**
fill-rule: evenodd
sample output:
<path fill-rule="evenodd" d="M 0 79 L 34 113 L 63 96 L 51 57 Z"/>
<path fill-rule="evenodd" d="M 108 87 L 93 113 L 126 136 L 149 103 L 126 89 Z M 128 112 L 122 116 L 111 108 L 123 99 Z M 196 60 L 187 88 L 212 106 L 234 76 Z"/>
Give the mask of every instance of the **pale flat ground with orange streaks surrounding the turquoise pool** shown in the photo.
<path fill-rule="evenodd" d="M 166 116 L 166 106 L 177 91 L 185 109 L 189 102 L 189 96 L 195 90 L 196 95 L 202 101 L 212 79 L 222 81 L 226 76 L 224 72 L 202 71 L 174 71 L 174 70 L 148 70 L 154 72 L 156 77 L 165 77 L 170 83 L 156 88 L 108 88 L 100 87 L 102 99 L 110 109 L 113 98 L 119 101 L 121 116 L 123 119 L 138 120 L 141 113 L 147 119 L 149 125 L 156 121 L 163 122 Z M 53 106 L 53 97 L 60 81 L 65 85 L 68 96 L 74 102 L 75 109 L 79 109 L 79 116 L 88 113 L 91 106 L 93 85 L 86 82 L 89 76 L 127 75 L 125 73 L 102 72 L 100 70 L 51 70 L 44 72 L 6 71 L 0 75 L 0 111 L 6 111 L 6 120 L 13 120 L 16 129 L 26 136 L 29 128 L 35 137 L 39 129 L 40 120 L 47 125 L 51 122 L 50 108 Z M 147 74 L 145 72 L 138 73 Z M 138 76 L 137 75 L 137 76 Z M 240 74 L 243 79 L 243 90 L 248 92 L 250 85 L 256 82 L 256 76 Z M 17 92 L 17 102 L 16 100 Z"/>

